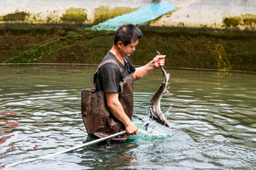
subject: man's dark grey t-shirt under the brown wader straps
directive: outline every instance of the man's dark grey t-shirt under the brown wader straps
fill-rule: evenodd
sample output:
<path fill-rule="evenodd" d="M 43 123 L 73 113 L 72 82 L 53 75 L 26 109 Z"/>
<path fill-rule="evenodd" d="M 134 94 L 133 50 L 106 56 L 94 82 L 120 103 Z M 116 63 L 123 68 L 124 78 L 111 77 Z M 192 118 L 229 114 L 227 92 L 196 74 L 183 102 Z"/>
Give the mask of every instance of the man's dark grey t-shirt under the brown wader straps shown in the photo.
<path fill-rule="evenodd" d="M 108 54 L 102 61 L 107 59 L 113 59 L 119 64 L 123 70 L 123 76 L 119 67 L 115 63 L 107 63 L 103 65 L 97 73 L 97 79 L 99 80 L 99 83 L 96 81 L 96 91 L 120 93 L 120 81 L 129 75 L 129 71 L 134 73 L 135 67 L 131 64 L 131 61 L 128 59 L 128 57 L 125 57 L 127 63 L 125 61 L 125 65 L 123 65 L 110 51 L 108 51 Z"/>

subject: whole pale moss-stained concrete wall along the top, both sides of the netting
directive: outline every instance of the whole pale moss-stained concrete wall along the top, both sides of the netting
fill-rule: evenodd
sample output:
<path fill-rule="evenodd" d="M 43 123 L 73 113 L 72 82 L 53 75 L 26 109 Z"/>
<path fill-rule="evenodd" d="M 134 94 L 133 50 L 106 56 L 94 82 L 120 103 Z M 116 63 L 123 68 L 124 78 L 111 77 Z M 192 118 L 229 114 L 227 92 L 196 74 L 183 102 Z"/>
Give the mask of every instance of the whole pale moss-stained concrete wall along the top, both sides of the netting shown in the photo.
<path fill-rule="evenodd" d="M 2 0 L 0 23 L 97 24 L 164 0 Z M 150 26 L 255 29 L 256 0 L 168 0 Z M 147 11 L 144 15 L 148 15 Z M 138 16 L 141 17 L 141 16 Z M 131 18 L 131 21 L 133 18 Z M 127 22 L 127 21 L 125 21 Z M 146 24 L 146 23 L 142 23 Z M 138 24 L 140 25 L 140 24 Z"/>

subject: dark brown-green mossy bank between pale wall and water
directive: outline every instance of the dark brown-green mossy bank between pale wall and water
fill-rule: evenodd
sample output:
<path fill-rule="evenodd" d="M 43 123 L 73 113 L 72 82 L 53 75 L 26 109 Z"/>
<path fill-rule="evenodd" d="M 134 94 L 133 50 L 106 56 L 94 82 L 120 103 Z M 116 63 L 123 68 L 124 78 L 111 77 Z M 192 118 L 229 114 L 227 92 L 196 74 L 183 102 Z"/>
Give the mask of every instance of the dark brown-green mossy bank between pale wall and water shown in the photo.
<path fill-rule="evenodd" d="M 85 17 L 85 15 L 84 15 Z M 222 43 L 232 70 L 256 72 L 256 34 L 216 30 L 141 28 L 143 38 L 130 59 L 145 65 L 157 54 L 166 66 L 218 69 L 210 47 Z M 74 26 L 0 27 L 0 63 L 99 64 L 113 45 L 113 31 Z"/>

